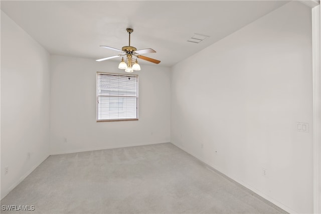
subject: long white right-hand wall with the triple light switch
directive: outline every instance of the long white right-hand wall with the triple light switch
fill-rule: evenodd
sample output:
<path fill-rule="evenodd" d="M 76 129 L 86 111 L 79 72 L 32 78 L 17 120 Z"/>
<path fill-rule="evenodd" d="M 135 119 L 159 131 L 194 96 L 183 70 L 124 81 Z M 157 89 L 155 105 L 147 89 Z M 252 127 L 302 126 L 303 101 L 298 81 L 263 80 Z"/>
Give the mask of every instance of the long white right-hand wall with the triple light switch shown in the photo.
<path fill-rule="evenodd" d="M 291 2 L 177 64 L 171 142 L 285 210 L 312 213 L 311 50 L 310 8 Z"/>

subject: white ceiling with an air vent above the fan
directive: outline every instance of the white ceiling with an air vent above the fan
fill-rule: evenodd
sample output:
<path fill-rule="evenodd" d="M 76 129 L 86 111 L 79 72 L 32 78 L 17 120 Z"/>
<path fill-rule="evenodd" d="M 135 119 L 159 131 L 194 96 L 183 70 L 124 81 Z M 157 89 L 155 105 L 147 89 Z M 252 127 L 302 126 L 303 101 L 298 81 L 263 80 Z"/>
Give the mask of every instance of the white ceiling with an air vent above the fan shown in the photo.
<path fill-rule="evenodd" d="M 144 56 L 161 60 L 159 65 L 173 66 L 286 3 L 1 1 L 1 10 L 51 54 L 93 60 L 117 55 L 119 52 L 99 46 L 127 46 L 125 29 L 133 28 L 131 46 L 152 48 L 157 53 Z M 199 44 L 187 42 L 195 33 L 209 38 Z"/>

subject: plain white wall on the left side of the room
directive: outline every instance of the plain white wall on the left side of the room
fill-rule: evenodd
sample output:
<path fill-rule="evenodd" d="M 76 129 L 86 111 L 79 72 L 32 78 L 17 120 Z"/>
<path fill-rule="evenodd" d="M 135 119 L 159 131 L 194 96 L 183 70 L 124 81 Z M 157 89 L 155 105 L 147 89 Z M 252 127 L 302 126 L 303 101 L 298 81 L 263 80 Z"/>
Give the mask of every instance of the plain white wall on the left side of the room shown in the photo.
<path fill-rule="evenodd" d="M 49 156 L 49 60 L 1 12 L 1 198 Z"/>

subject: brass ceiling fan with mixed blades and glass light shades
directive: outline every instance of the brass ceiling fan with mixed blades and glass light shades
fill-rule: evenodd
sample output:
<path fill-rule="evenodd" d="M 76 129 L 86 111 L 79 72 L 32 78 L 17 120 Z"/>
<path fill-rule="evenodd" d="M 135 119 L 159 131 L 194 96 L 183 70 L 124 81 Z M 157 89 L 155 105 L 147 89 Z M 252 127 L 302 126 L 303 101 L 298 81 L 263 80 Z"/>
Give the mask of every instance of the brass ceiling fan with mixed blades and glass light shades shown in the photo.
<path fill-rule="evenodd" d="M 156 53 L 156 52 L 154 50 L 152 50 L 151 48 L 137 50 L 135 47 L 130 46 L 130 34 L 134 30 L 132 30 L 131 28 L 127 28 L 126 31 L 129 34 L 129 45 L 122 47 L 121 50 L 116 49 L 116 48 L 112 48 L 109 46 L 104 46 L 104 45 L 99 46 L 99 47 L 107 48 L 110 50 L 119 51 L 119 52 L 121 52 L 121 54 L 111 56 L 111 57 L 105 57 L 102 59 L 98 59 L 96 61 L 100 62 L 100 61 L 109 60 L 109 59 L 113 59 L 116 57 L 121 57 L 121 56 L 126 55 L 126 62 L 124 61 L 124 58 L 122 57 L 122 60 L 119 63 L 118 68 L 125 69 L 125 72 L 129 72 L 129 73 L 131 73 L 133 71 L 140 70 L 140 66 L 138 65 L 137 58 L 142 59 L 142 60 L 146 60 L 148 62 L 155 63 L 155 64 L 158 64 L 161 62 L 159 60 L 155 60 L 155 59 L 140 55 L 140 54 L 149 54 L 149 53 Z M 136 57 L 136 60 L 133 59 L 133 56 Z"/>

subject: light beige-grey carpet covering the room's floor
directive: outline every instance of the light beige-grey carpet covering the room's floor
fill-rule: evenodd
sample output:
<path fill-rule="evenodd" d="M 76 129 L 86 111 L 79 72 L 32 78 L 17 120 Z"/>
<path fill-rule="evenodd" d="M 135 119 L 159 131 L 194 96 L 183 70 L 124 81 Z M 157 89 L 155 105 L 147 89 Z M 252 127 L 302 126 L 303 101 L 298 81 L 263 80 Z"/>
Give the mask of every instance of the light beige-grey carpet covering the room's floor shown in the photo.
<path fill-rule="evenodd" d="M 1 213 L 286 213 L 171 143 L 51 155 Z"/>

